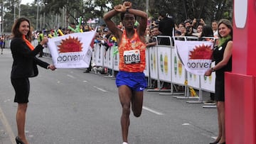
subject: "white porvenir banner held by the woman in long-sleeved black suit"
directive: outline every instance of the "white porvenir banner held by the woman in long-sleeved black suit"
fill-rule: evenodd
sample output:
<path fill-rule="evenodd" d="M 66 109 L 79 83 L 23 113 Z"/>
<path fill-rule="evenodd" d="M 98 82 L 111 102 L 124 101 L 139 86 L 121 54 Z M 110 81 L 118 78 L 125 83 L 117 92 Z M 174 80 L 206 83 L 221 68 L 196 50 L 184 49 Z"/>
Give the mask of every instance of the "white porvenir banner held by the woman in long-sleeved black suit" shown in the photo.
<path fill-rule="evenodd" d="M 96 31 L 49 38 L 48 48 L 57 68 L 89 67 Z"/>

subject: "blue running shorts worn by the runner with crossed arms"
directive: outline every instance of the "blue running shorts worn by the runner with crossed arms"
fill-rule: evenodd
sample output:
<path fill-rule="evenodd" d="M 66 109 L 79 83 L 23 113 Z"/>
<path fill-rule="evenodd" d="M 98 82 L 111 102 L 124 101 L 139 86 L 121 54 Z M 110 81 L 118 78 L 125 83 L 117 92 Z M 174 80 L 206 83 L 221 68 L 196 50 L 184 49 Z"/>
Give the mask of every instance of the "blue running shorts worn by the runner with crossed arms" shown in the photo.
<path fill-rule="evenodd" d="M 147 84 L 143 72 L 123 72 L 120 71 L 116 78 L 117 87 L 127 85 L 135 92 L 143 91 Z"/>

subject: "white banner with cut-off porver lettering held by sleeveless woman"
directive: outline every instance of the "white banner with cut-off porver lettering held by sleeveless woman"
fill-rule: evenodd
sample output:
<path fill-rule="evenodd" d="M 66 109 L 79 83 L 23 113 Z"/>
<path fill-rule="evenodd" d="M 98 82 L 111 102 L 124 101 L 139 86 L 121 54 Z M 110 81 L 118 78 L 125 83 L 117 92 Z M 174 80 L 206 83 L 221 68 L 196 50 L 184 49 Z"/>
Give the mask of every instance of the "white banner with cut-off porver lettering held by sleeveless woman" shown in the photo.
<path fill-rule="evenodd" d="M 188 72 L 203 75 L 210 68 L 213 54 L 212 42 L 175 40 L 175 48 Z"/>

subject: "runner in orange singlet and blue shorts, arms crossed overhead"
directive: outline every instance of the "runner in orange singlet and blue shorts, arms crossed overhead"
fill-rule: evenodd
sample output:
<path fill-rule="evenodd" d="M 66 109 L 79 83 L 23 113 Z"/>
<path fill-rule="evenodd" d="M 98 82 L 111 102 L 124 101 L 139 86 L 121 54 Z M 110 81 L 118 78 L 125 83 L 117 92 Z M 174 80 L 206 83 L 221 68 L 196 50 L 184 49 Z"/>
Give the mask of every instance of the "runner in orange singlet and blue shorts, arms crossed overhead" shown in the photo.
<path fill-rule="evenodd" d="M 121 13 L 124 31 L 119 29 L 111 18 Z M 134 28 L 135 16 L 140 17 L 139 26 Z M 143 90 L 146 87 L 146 79 L 143 73 L 146 60 L 146 31 L 147 14 L 144 11 L 132 9 L 132 3 L 124 1 L 124 4 L 114 6 L 112 11 L 105 14 L 104 20 L 107 27 L 117 38 L 119 50 L 119 72 L 116 84 L 119 92 L 119 100 L 122 105 L 122 138 L 123 144 L 127 144 L 129 130 L 129 114 L 132 106 L 134 116 L 142 114 Z"/>

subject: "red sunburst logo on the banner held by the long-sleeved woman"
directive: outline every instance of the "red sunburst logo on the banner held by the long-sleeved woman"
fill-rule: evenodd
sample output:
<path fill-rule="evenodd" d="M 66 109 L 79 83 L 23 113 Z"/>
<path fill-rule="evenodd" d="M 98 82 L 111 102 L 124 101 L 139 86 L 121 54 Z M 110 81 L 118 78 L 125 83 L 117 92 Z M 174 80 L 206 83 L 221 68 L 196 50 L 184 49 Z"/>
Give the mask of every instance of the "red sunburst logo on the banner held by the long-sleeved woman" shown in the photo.
<path fill-rule="evenodd" d="M 60 45 L 58 45 L 58 49 L 61 52 L 81 52 L 82 51 L 82 43 L 78 38 L 71 38 L 70 36 L 65 40 L 61 40 Z"/>

